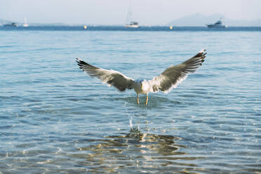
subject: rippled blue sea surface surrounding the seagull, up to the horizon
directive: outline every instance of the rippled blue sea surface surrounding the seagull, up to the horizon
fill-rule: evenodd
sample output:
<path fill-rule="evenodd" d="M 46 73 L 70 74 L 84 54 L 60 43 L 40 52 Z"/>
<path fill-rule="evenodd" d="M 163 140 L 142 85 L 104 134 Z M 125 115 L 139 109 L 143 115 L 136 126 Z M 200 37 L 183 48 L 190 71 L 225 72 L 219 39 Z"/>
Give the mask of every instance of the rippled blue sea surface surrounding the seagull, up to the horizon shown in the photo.
<path fill-rule="evenodd" d="M 1 29 L 0 173 L 261 173 L 260 41 L 248 29 Z M 147 106 L 75 62 L 152 79 L 202 48 L 203 66 Z"/>

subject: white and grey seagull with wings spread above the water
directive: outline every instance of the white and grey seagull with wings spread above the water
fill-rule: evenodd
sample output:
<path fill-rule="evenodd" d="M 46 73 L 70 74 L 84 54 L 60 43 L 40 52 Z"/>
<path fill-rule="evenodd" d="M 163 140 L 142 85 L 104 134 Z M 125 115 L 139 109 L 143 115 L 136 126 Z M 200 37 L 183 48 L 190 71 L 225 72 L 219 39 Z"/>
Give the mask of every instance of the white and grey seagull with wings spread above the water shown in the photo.
<path fill-rule="evenodd" d="M 119 91 L 123 92 L 126 89 L 134 89 L 137 93 L 137 103 L 140 104 L 139 94 L 146 94 L 146 102 L 148 103 L 148 93 L 156 93 L 162 91 L 168 93 L 173 88 L 176 88 L 178 84 L 187 78 L 188 74 L 196 72 L 204 59 L 206 58 L 206 49 L 199 51 L 194 57 L 180 63 L 179 65 L 170 65 L 159 76 L 154 76 L 151 80 L 134 80 L 120 72 L 112 69 L 102 69 L 95 67 L 87 62 L 84 62 L 80 58 L 76 58 L 76 62 L 79 68 L 86 72 L 90 77 L 96 77 L 102 83 L 107 83 L 108 86 L 114 86 Z"/>

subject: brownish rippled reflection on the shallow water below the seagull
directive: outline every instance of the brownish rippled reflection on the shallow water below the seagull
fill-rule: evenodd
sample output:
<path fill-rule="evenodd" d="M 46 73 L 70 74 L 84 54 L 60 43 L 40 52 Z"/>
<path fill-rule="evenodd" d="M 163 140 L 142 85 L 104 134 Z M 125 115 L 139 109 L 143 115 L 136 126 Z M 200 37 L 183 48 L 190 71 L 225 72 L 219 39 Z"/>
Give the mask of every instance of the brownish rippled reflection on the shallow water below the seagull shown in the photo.
<path fill-rule="evenodd" d="M 175 141 L 180 138 L 172 135 L 154 135 L 131 130 L 126 135 L 109 135 L 95 145 L 79 147 L 78 153 L 72 158 L 85 159 L 79 166 L 89 172 L 126 172 L 130 169 L 136 171 L 152 172 L 166 170 L 166 167 L 184 172 L 196 167 L 189 160 L 199 159 L 186 157 L 182 152 L 185 146 Z M 187 162 L 188 161 L 188 162 Z"/>

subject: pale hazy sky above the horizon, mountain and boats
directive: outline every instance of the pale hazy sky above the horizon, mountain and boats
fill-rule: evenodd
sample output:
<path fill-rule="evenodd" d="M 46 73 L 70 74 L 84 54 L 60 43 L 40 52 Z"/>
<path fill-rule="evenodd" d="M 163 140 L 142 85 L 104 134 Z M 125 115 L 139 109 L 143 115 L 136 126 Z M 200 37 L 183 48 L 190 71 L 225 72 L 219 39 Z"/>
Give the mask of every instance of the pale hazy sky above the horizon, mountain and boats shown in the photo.
<path fill-rule="evenodd" d="M 123 25 L 131 0 L 0 0 L 0 19 L 23 22 Z M 201 13 L 227 18 L 261 18 L 260 0 L 132 0 L 133 20 L 141 25 L 166 23 Z"/>

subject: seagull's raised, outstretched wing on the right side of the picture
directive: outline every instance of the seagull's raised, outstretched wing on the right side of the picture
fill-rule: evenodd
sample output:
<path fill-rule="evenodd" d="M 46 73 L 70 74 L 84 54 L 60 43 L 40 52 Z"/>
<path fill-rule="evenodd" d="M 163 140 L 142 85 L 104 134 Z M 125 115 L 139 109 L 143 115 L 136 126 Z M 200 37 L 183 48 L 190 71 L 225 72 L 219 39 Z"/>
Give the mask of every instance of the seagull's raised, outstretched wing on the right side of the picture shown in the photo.
<path fill-rule="evenodd" d="M 183 80 L 187 78 L 190 73 L 196 72 L 204 58 L 206 58 L 206 49 L 203 49 L 197 53 L 193 58 L 182 62 L 179 65 L 171 65 L 159 76 L 154 76 L 152 80 L 149 80 L 150 92 L 163 91 L 168 93 L 172 88 L 176 88 Z"/>

